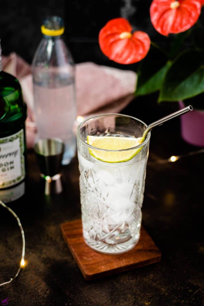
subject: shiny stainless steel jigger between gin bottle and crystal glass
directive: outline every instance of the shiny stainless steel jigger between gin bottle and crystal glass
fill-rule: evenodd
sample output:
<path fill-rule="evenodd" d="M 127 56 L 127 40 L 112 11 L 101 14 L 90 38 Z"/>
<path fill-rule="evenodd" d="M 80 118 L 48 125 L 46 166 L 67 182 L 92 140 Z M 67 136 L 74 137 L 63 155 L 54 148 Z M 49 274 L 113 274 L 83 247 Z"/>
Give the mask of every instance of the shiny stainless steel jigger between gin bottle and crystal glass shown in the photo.
<path fill-rule="evenodd" d="M 34 146 L 39 162 L 45 194 L 62 192 L 61 162 L 64 153 L 64 142 L 59 138 L 39 139 Z"/>

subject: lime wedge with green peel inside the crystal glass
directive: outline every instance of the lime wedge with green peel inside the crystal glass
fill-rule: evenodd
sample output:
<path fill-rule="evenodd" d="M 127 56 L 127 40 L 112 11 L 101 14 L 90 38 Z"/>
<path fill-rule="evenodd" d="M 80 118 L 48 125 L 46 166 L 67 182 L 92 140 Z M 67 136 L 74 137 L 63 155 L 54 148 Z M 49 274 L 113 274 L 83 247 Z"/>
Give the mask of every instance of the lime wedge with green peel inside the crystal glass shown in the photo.
<path fill-rule="evenodd" d="M 112 136 L 87 136 L 87 143 L 93 147 L 104 150 L 124 150 L 136 147 L 144 141 L 143 137 L 112 137 Z M 142 149 L 128 151 L 100 151 L 89 148 L 89 153 L 102 162 L 126 162 L 132 159 Z"/>

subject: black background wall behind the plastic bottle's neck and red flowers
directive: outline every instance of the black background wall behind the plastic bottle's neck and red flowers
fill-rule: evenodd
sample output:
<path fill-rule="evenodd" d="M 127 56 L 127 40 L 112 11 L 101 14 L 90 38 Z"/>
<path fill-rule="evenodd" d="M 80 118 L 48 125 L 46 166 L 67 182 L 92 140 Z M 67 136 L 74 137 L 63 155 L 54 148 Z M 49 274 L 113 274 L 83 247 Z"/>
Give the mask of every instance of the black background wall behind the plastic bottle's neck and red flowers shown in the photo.
<path fill-rule="evenodd" d="M 31 63 L 42 37 L 40 26 L 48 15 L 59 15 L 65 23 L 64 41 L 75 62 L 127 69 L 111 62 L 100 51 L 98 33 L 112 18 L 125 17 L 134 30 L 148 32 L 151 39 L 165 41 L 150 22 L 151 0 L 6 0 L 1 3 L 0 38 L 2 54 L 16 52 Z M 132 66 L 128 69 L 133 68 Z"/>

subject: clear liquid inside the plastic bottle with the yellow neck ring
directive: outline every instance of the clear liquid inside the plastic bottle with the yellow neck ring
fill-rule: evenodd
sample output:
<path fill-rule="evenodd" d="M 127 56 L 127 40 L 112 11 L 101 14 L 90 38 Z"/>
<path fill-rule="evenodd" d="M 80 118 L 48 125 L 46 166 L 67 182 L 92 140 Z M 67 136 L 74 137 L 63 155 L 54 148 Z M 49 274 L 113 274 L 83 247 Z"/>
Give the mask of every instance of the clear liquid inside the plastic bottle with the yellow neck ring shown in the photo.
<path fill-rule="evenodd" d="M 34 78 L 35 117 L 38 138 L 57 137 L 64 141 L 63 164 L 75 155 L 76 140 L 73 124 L 76 118 L 75 84 L 68 77 L 41 73 Z"/>

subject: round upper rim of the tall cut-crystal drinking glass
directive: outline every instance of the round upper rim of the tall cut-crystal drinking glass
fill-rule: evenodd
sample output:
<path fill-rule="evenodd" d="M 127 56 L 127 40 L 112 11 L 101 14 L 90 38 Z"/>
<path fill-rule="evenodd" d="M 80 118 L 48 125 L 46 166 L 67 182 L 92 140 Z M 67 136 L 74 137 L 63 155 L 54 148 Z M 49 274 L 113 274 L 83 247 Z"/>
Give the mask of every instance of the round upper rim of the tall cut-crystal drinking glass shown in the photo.
<path fill-rule="evenodd" d="M 101 149 L 101 148 L 97 148 L 97 147 L 93 147 L 92 145 L 90 144 L 87 144 L 81 137 L 80 133 L 79 133 L 79 130 L 81 129 L 82 125 L 86 122 L 86 121 L 89 121 L 89 120 L 92 120 L 92 119 L 95 119 L 95 118 L 99 118 L 99 117 L 106 117 L 106 116 L 120 116 L 120 117 L 128 117 L 128 118 L 132 118 L 136 121 L 139 121 L 140 123 L 142 123 L 145 127 L 147 127 L 147 124 L 144 123 L 142 120 L 138 119 L 138 118 L 135 118 L 135 117 L 132 117 L 132 116 L 129 116 L 129 115 L 123 115 L 123 114 L 115 114 L 115 113 L 108 113 L 108 114 L 100 114 L 100 115 L 96 115 L 96 116 L 93 116 L 93 117 L 89 117 L 89 118 L 86 118 L 84 121 L 82 121 L 79 125 L 78 125 L 78 128 L 77 128 L 77 132 L 76 132 L 76 135 L 77 135 L 77 138 L 78 140 L 84 144 L 86 147 L 89 147 L 90 149 L 92 150 L 99 150 L 99 151 L 106 151 L 106 152 L 121 152 L 121 151 L 130 151 L 130 150 L 136 150 L 136 149 L 139 149 L 141 147 L 144 147 L 148 141 L 150 140 L 150 136 L 151 136 L 151 132 L 148 132 L 147 134 L 147 137 L 145 138 L 145 140 L 137 145 L 136 147 L 131 147 L 131 148 L 128 148 L 128 149 L 122 149 L 122 150 L 106 150 L 106 149 Z"/>

